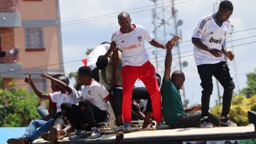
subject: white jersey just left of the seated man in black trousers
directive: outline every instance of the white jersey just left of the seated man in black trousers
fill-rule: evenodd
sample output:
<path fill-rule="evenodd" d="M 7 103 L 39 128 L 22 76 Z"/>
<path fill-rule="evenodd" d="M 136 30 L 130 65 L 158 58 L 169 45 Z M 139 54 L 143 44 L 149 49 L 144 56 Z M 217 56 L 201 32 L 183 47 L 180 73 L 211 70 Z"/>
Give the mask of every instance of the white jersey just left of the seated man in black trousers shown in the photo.
<path fill-rule="evenodd" d="M 72 89 L 71 93 L 61 93 L 60 91 L 49 93 L 49 99 L 52 102 L 57 102 L 57 113 L 61 111 L 60 105 L 63 102 L 75 104 L 78 98 L 78 92 L 74 87 L 69 86 Z"/>

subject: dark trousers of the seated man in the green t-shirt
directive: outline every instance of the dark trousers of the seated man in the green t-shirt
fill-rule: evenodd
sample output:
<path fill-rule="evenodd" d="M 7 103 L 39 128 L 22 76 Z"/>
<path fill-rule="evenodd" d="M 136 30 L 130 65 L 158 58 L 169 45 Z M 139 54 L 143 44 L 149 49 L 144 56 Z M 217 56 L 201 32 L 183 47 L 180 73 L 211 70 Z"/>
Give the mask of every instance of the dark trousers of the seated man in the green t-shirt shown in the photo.
<path fill-rule="evenodd" d="M 215 125 L 219 126 L 220 119 L 209 113 L 208 115 L 210 122 Z M 177 119 L 177 123 L 172 126 L 172 129 L 183 129 L 183 128 L 188 128 L 188 127 L 200 127 L 200 119 L 201 119 L 201 114 L 197 115 L 183 115 L 179 119 Z"/>

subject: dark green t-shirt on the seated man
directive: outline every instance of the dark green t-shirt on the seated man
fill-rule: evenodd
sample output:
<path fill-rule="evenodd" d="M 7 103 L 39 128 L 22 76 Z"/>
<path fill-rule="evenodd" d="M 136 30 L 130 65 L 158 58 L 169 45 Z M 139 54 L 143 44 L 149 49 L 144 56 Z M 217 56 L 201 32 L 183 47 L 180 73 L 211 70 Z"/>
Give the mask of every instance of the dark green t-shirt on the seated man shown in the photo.
<path fill-rule="evenodd" d="M 161 85 L 162 107 L 164 121 L 168 125 L 173 125 L 178 116 L 185 115 L 180 92 L 170 79 L 163 78 Z"/>

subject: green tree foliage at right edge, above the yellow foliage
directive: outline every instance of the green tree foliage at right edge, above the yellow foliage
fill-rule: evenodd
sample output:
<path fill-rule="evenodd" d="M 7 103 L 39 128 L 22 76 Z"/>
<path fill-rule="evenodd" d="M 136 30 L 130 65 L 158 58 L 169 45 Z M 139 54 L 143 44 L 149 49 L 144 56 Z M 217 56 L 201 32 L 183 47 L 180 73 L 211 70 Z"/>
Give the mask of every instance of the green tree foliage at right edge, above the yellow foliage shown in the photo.
<path fill-rule="evenodd" d="M 256 70 L 252 73 L 246 74 L 246 77 L 248 87 L 242 89 L 241 93 L 247 98 L 250 98 L 252 95 L 256 94 Z"/>

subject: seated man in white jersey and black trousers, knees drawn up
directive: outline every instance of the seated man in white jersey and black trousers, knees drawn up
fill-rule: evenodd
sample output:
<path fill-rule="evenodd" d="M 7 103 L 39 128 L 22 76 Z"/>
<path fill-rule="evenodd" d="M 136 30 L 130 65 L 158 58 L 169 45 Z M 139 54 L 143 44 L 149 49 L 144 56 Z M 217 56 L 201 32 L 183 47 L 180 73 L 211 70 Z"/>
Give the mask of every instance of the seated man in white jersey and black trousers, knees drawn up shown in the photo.
<path fill-rule="evenodd" d="M 107 122 L 107 99 L 110 94 L 103 85 L 92 79 L 90 67 L 83 66 L 78 69 L 78 81 L 84 85 L 81 89 L 82 100 L 79 101 L 78 106 L 62 103 L 62 113 L 74 129 L 85 130 L 84 125 L 87 124 L 92 130 L 91 138 L 99 138 L 101 133 L 96 124 Z"/>

